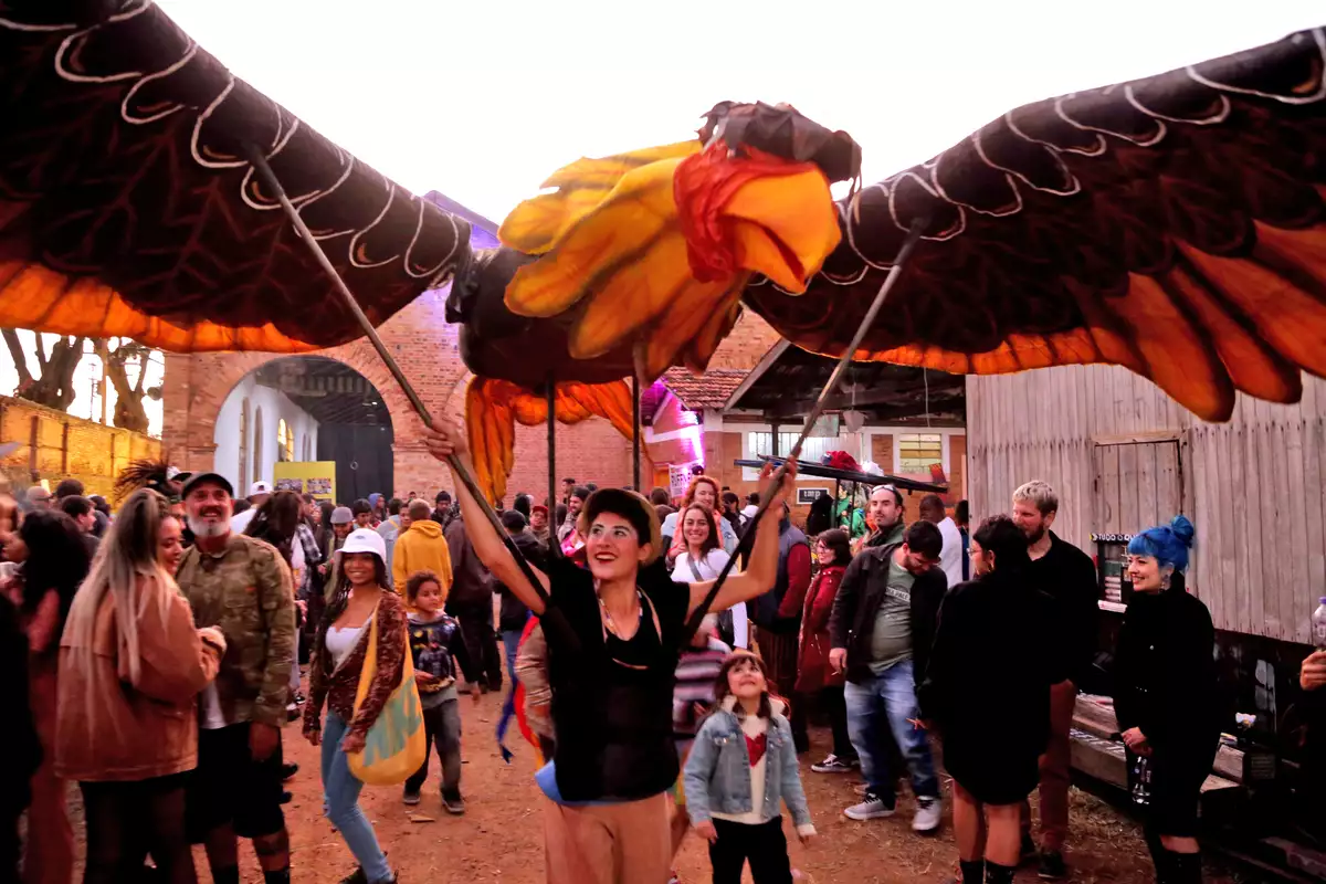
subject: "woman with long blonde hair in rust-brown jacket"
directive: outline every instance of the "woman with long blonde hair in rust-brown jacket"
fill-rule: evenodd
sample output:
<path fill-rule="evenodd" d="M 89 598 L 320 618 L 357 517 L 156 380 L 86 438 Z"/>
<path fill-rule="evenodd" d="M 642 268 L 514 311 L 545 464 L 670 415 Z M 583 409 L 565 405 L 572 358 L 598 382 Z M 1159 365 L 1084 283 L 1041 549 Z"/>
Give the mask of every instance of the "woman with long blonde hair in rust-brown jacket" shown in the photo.
<path fill-rule="evenodd" d="M 85 884 L 133 880 L 147 854 L 162 880 L 198 880 L 184 775 L 198 765 L 196 698 L 216 677 L 225 639 L 194 626 L 171 575 L 180 549 L 166 498 L 135 492 L 102 541 L 60 643 L 56 770 L 82 790 Z"/>

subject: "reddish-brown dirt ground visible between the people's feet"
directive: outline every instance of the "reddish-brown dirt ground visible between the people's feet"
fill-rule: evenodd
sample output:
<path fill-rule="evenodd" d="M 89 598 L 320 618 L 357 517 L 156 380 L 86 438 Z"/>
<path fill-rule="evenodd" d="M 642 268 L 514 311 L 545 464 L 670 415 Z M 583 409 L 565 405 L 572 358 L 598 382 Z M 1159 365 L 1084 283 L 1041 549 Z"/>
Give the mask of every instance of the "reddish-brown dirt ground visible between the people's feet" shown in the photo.
<path fill-rule="evenodd" d="M 479 705 L 461 697 L 464 720 L 464 773 L 461 790 L 468 812 L 448 816 L 439 804 L 438 762 L 424 786 L 423 802 L 414 808 L 400 803 L 399 789 L 365 789 L 361 804 L 378 832 L 391 864 L 404 884 L 540 884 L 544 880 L 542 799 L 533 783 L 534 757 L 518 734 L 508 745 L 516 751 L 511 765 L 497 754 L 493 728 L 501 710 L 496 694 Z M 819 838 L 802 848 L 790 836 L 793 867 L 813 884 L 914 884 L 939 883 L 952 876 L 956 854 L 945 814 L 936 836 L 914 835 L 911 803 L 904 799 L 898 816 L 855 823 L 842 808 L 855 801 L 850 775 L 821 775 L 809 770 L 810 759 L 823 755 L 827 734 L 812 732 L 814 749 L 802 757 L 802 779 L 810 799 Z M 292 725 L 285 730 L 286 758 L 298 762 L 300 773 L 288 785 L 294 799 L 286 819 L 294 851 L 293 879 L 306 884 L 339 881 L 354 869 L 354 860 L 341 838 L 321 814 L 317 750 Z M 428 818 L 412 822 L 411 818 Z M 1136 824 L 1113 807 L 1077 789 L 1073 791 L 1073 836 L 1067 860 L 1077 884 L 1143 884 L 1152 880 Z M 261 881 L 252 852 L 243 848 L 245 881 Z M 693 835 L 678 859 L 683 884 L 709 880 L 708 854 Z M 207 861 L 198 852 L 200 880 L 208 881 Z M 748 879 L 749 880 L 749 879 Z M 1025 869 L 1020 881 L 1038 880 Z M 1208 881 L 1231 884 L 1238 879 L 1217 869 Z"/>

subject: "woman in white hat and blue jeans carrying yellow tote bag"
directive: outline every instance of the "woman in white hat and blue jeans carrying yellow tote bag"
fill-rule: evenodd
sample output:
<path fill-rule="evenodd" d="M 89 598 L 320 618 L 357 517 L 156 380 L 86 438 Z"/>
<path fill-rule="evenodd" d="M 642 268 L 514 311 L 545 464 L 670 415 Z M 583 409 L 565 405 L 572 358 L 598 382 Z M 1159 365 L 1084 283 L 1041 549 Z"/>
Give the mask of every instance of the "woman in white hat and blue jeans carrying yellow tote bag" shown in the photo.
<path fill-rule="evenodd" d="M 353 531 L 341 547 L 335 569 L 342 587 L 329 599 L 318 626 L 318 637 L 309 663 L 309 702 L 304 709 L 304 736 L 322 746 L 322 790 L 328 819 L 337 827 L 346 846 L 359 863 L 359 869 L 346 881 L 395 881 L 387 857 L 378 844 L 373 823 L 359 810 L 363 789 L 363 765 L 370 767 L 383 757 L 389 744 L 389 761 L 400 761 L 404 777 L 419 767 L 423 753 L 411 757 L 412 734 L 400 734 L 399 721 L 408 718 L 408 705 L 422 738 L 406 645 L 406 606 L 391 588 L 387 577 L 386 543 L 371 529 Z M 322 704 L 326 718 L 320 721 Z M 402 716 L 400 713 L 406 714 Z M 404 742 L 383 740 L 383 728 L 403 736 Z M 386 734 L 391 736 L 391 734 Z M 422 740 L 414 741 L 423 749 Z M 369 751 L 365 747 L 369 746 Z M 391 750 L 395 749 L 392 753 Z M 410 762 L 414 767 L 408 767 Z M 374 783 L 383 782 L 377 778 Z"/>

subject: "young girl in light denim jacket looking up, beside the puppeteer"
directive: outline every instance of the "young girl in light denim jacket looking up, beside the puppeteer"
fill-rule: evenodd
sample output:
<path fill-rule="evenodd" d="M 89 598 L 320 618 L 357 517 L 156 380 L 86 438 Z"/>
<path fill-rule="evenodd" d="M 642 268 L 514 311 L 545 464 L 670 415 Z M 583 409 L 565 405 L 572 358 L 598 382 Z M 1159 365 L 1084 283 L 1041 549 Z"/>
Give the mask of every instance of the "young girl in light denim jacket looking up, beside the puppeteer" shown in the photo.
<path fill-rule="evenodd" d="M 785 803 L 802 843 L 815 827 L 801 787 L 786 704 L 769 694 L 764 663 L 736 651 L 713 687 L 713 713 L 700 726 L 686 762 L 687 810 L 709 839 L 713 884 L 737 884 L 751 861 L 754 884 L 792 884 Z"/>

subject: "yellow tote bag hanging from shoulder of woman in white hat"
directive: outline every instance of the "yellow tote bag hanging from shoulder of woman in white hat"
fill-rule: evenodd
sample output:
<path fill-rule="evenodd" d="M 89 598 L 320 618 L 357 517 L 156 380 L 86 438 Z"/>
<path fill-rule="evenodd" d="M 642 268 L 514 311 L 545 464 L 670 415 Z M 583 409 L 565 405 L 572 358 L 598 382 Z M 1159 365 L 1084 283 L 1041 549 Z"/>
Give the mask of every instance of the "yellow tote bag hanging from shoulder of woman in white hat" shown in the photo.
<path fill-rule="evenodd" d="M 378 612 L 373 612 L 373 632 L 369 634 L 369 652 L 363 660 L 363 671 L 359 673 L 359 689 L 354 697 L 354 708 L 359 709 L 373 676 L 378 671 L 378 639 L 382 631 Z M 351 751 L 347 761 L 350 773 L 359 782 L 370 786 L 396 786 L 419 770 L 423 759 L 428 755 L 428 740 L 423 729 L 423 708 L 419 705 L 419 689 L 414 681 L 414 659 L 410 655 L 410 644 L 404 630 L 396 636 L 398 641 L 406 644 L 404 668 L 400 672 L 400 684 L 387 704 L 382 708 L 382 714 L 369 728 L 363 744 L 363 751 Z"/>

